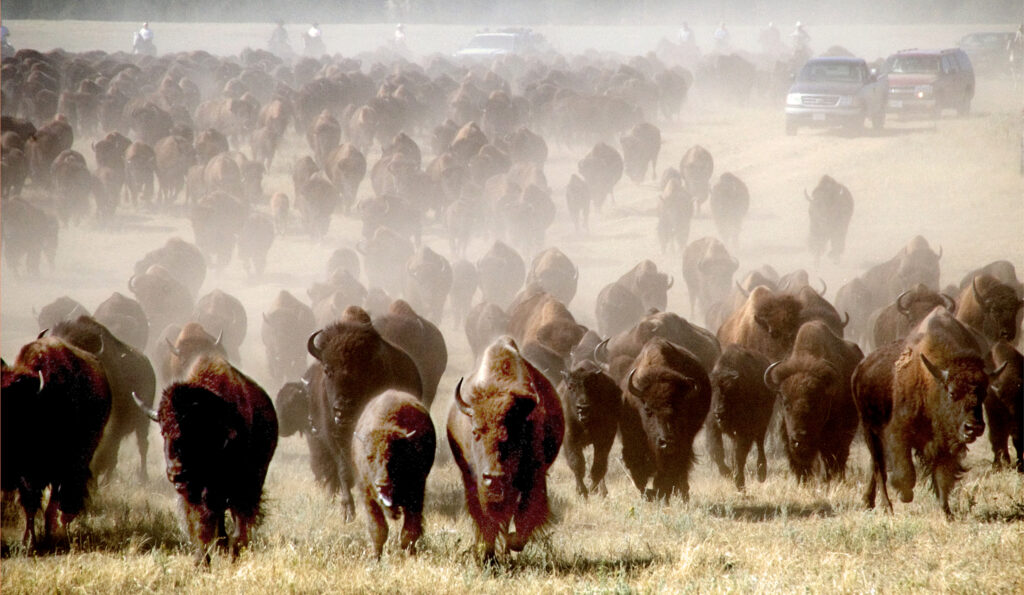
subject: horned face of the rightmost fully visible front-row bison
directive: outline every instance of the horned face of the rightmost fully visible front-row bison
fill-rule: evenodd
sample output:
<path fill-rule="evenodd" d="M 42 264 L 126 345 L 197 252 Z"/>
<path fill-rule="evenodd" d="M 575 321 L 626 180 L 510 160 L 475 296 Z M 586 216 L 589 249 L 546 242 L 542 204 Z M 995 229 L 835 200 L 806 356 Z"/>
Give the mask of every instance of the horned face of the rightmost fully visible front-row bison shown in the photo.
<path fill-rule="evenodd" d="M 921 360 L 939 385 L 939 402 L 933 416 L 946 440 L 969 444 L 985 431 L 982 402 L 988 393 L 988 375 L 981 359 L 957 359 L 939 368 L 924 353 Z M 997 377 L 1002 369 L 991 374 Z"/>

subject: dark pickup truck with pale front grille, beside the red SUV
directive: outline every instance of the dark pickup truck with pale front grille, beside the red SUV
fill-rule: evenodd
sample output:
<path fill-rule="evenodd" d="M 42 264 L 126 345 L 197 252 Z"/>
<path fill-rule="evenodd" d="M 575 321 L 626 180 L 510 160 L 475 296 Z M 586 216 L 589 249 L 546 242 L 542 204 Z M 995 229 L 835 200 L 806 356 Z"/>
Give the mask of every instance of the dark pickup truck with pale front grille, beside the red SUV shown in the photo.
<path fill-rule="evenodd" d="M 873 128 L 886 122 L 889 83 L 863 58 L 816 57 L 807 60 L 785 96 L 785 133 L 801 126 L 846 126 L 859 130 L 870 119 Z"/>

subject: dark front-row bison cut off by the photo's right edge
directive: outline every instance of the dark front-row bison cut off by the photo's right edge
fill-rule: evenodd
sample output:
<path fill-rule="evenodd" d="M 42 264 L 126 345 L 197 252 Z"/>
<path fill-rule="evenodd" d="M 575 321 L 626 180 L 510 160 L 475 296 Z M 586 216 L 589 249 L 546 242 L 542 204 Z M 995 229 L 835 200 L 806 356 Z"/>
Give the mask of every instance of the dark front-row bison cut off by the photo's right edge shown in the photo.
<path fill-rule="evenodd" d="M 988 418 L 988 440 L 992 444 L 992 465 L 1010 465 L 1009 438 L 1017 451 L 1015 467 L 1024 473 L 1024 357 L 1010 342 L 1002 340 L 992 346 L 989 357 L 999 373 L 992 374 L 985 397 L 985 417 Z"/>

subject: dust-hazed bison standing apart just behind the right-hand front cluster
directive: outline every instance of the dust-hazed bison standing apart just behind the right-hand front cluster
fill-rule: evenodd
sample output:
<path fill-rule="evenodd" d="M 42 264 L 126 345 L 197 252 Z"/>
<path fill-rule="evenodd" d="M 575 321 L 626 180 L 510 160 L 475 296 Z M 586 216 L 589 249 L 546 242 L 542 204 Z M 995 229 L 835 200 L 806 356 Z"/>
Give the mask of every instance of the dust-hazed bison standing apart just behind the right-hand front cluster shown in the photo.
<path fill-rule="evenodd" d="M 683 280 L 690 294 L 690 314 L 699 304 L 707 315 L 712 305 L 725 299 L 737 268 L 739 261 L 718 240 L 701 238 L 688 244 L 683 251 Z"/>

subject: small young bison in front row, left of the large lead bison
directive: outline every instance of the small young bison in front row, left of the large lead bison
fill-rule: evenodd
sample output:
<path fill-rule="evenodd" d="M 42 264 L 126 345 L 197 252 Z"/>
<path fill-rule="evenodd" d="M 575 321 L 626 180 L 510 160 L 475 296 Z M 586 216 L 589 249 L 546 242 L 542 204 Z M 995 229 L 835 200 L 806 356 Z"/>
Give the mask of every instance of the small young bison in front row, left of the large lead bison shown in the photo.
<path fill-rule="evenodd" d="M 427 475 L 437 443 L 429 412 L 416 396 L 388 390 L 362 410 L 352 435 L 356 482 L 377 557 L 387 541 L 385 515 L 402 515 L 398 546 L 416 553 L 416 542 L 423 535 Z"/>

